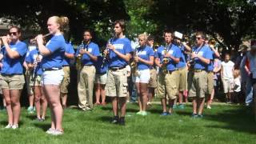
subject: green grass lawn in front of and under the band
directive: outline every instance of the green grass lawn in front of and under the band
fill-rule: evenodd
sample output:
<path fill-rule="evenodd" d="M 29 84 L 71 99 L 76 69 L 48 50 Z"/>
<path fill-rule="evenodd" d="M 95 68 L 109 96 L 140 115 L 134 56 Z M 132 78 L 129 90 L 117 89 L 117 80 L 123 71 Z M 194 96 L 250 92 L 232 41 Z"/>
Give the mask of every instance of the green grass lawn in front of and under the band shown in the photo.
<path fill-rule="evenodd" d="M 138 106 L 129 104 L 126 126 L 110 124 L 111 106 L 98 106 L 84 112 L 66 109 L 63 120 L 65 133 L 46 134 L 46 122 L 34 121 L 35 114 L 22 109 L 20 128 L 5 130 L 6 112 L 0 112 L 0 143 L 255 143 L 256 122 L 246 107 L 214 105 L 205 110 L 204 118 L 190 118 L 191 106 L 162 117 L 161 106 L 150 108 L 150 115 L 138 116 Z M 49 115 L 49 113 L 48 113 Z"/>

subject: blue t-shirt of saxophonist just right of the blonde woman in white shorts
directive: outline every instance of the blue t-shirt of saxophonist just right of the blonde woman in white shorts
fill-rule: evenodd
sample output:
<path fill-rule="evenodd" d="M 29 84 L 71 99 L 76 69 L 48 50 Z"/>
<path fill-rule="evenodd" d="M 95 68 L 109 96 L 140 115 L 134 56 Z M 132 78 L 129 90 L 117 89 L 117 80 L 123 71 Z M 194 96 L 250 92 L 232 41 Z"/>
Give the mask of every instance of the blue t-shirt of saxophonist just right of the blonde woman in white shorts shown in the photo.
<path fill-rule="evenodd" d="M 158 52 L 157 52 L 157 58 L 160 58 L 160 62 L 162 63 L 162 59 L 164 58 L 164 46 L 160 46 L 158 47 Z M 180 50 L 180 48 L 178 48 L 178 46 L 175 46 L 174 44 L 171 44 L 170 46 L 167 47 L 166 49 L 168 51 L 169 54 L 171 54 L 172 56 L 174 56 L 174 58 L 182 58 L 182 51 Z M 176 70 L 176 63 L 174 62 L 173 59 L 169 58 L 169 62 L 167 63 L 167 70 Z"/>

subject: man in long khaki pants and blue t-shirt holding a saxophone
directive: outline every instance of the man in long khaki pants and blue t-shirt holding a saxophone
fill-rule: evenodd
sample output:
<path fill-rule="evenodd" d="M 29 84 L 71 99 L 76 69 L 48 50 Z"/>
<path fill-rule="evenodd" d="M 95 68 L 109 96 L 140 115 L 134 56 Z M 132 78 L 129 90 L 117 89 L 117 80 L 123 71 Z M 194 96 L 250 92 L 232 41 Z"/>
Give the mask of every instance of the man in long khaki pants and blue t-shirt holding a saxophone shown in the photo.
<path fill-rule="evenodd" d="M 99 56 L 98 45 L 91 42 L 93 38 L 90 30 L 85 30 L 83 33 L 83 44 L 78 47 L 76 56 L 82 55 L 81 70 L 78 70 L 78 106 L 82 110 L 93 109 L 93 90 L 94 90 L 94 77 L 96 73 L 95 62 Z"/>

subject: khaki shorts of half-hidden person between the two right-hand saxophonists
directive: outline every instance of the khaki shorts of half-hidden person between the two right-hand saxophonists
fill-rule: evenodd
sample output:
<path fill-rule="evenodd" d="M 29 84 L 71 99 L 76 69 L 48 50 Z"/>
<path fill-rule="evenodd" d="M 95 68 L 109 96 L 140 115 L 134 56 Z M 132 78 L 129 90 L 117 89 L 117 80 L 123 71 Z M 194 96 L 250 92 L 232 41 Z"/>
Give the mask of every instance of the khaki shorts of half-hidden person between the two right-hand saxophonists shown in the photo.
<path fill-rule="evenodd" d="M 178 78 L 176 86 L 178 86 L 178 91 L 187 90 L 187 69 L 186 67 L 178 70 Z"/>

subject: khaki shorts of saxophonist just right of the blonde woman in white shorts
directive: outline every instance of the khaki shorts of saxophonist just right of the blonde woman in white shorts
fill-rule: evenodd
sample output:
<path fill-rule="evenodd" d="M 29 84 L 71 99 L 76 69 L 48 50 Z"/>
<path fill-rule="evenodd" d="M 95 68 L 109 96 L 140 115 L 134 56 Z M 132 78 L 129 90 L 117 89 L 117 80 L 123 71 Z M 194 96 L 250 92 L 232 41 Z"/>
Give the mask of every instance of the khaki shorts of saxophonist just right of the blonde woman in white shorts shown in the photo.
<path fill-rule="evenodd" d="M 175 99 L 178 96 L 178 89 L 176 86 L 176 78 L 178 76 L 178 70 L 175 70 L 171 74 L 158 74 L 158 98 Z"/>

